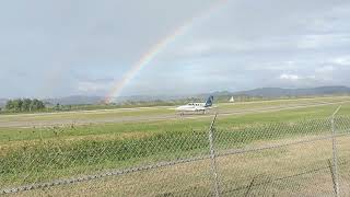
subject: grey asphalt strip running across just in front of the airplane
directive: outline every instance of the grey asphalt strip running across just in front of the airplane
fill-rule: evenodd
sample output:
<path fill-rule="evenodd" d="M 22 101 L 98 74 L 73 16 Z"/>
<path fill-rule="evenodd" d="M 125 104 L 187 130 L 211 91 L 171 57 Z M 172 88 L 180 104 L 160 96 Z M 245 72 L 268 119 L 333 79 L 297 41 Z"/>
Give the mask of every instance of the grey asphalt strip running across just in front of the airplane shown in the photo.
<path fill-rule="evenodd" d="M 81 118 L 81 119 L 50 119 L 50 120 L 16 120 L 16 118 L 11 118 L 11 120 L 0 117 L 0 129 L 1 128 L 34 128 L 34 127 L 49 127 L 49 126 L 63 126 L 63 125 L 89 125 L 89 124 L 104 124 L 104 123 L 147 123 L 147 121 L 156 121 L 156 120 L 174 120 L 174 119 L 200 119 L 212 116 L 218 113 L 220 116 L 234 116 L 234 115 L 246 115 L 246 114 L 255 114 L 255 113 L 270 113 L 270 112 L 279 112 L 279 111 L 288 111 L 288 109 L 298 109 L 298 108 L 306 108 L 306 107 L 316 107 L 316 106 L 326 106 L 326 105 L 341 105 L 345 103 L 350 103 L 350 101 L 341 101 L 341 102 L 315 102 L 308 104 L 288 104 L 288 105 L 272 105 L 265 107 L 253 107 L 249 109 L 225 109 L 225 108 L 217 108 L 212 109 L 208 114 L 187 114 L 180 116 L 174 113 L 166 114 L 150 114 L 150 115 L 136 115 L 136 116 L 118 116 L 118 117 L 103 117 L 103 118 Z M 159 108 L 159 107 L 156 107 Z M 103 111 L 88 112 L 88 113 L 98 113 Z M 10 115 L 11 116 L 11 115 Z M 13 115 L 22 117 L 22 116 L 31 116 L 31 115 Z M 37 116 L 37 115 L 33 115 Z M 40 114 L 39 116 L 45 116 L 45 114 Z"/>

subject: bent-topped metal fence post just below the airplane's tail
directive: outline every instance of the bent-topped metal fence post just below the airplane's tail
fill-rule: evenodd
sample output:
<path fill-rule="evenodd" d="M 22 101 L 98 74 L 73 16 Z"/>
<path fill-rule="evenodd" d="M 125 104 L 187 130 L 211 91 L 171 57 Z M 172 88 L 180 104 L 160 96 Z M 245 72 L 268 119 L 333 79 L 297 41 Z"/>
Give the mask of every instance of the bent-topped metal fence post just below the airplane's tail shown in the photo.
<path fill-rule="evenodd" d="M 213 175 L 214 194 L 215 194 L 215 197 L 219 197 L 220 196 L 219 177 L 218 177 L 217 157 L 215 157 L 214 142 L 213 142 L 213 130 L 214 130 L 214 124 L 215 124 L 217 117 L 218 117 L 218 113 L 215 114 L 209 128 L 209 146 L 210 146 L 211 173 Z"/>

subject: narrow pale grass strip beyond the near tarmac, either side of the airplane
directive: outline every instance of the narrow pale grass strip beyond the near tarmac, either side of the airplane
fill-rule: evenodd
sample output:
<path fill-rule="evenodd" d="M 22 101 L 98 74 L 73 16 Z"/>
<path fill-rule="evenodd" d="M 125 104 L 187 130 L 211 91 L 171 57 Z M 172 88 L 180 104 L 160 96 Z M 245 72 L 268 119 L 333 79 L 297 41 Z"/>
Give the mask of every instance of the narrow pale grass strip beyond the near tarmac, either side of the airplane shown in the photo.
<path fill-rule="evenodd" d="M 299 99 L 299 100 L 275 100 L 262 102 L 243 102 L 243 103 L 219 103 L 219 109 L 259 109 L 262 107 L 279 107 L 279 106 L 296 106 L 306 104 L 322 104 L 323 102 L 341 102 L 349 101 L 349 96 L 336 97 L 316 97 L 316 99 Z M 90 120 L 90 119 L 105 119 L 105 118 L 120 118 L 135 116 L 152 116 L 152 115 L 173 115 L 174 106 L 154 107 L 154 108 L 131 108 L 131 109 L 110 109 L 98 112 L 62 112 L 54 114 L 19 114 L 19 115 L 0 115 L 1 121 L 45 121 L 45 120 Z"/>

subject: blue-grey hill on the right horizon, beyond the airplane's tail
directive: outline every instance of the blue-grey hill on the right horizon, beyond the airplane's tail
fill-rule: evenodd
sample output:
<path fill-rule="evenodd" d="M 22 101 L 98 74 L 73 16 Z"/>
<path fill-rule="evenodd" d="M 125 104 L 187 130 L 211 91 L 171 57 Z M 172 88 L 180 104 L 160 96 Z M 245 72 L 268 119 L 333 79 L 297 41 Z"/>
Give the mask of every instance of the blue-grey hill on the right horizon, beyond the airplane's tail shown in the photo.
<path fill-rule="evenodd" d="M 280 89 L 262 88 L 250 91 L 235 92 L 232 95 L 247 95 L 261 97 L 283 97 L 283 96 L 312 96 L 312 95 L 331 95 L 331 94 L 350 94 L 348 86 L 318 86 L 311 89 Z"/>

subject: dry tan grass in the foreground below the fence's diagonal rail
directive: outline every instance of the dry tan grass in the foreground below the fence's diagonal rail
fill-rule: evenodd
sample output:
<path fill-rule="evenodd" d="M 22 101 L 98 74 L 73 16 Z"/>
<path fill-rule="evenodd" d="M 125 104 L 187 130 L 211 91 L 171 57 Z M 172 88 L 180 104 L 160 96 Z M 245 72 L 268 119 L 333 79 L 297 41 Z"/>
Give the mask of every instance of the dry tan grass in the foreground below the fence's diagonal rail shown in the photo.
<path fill-rule="evenodd" d="M 341 184 L 348 186 L 349 138 L 338 140 L 343 174 Z M 331 141 L 320 140 L 307 146 L 219 158 L 221 196 L 246 196 L 247 190 L 249 196 L 334 196 L 327 163 L 331 149 L 327 147 L 331 147 Z M 20 196 L 80 196 L 86 193 L 90 196 L 210 196 L 210 160 L 202 160 Z M 248 189 L 253 179 L 255 185 Z M 342 187 L 341 196 L 348 195 L 348 187 Z"/>

